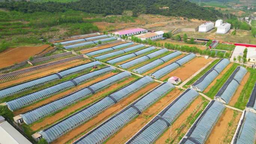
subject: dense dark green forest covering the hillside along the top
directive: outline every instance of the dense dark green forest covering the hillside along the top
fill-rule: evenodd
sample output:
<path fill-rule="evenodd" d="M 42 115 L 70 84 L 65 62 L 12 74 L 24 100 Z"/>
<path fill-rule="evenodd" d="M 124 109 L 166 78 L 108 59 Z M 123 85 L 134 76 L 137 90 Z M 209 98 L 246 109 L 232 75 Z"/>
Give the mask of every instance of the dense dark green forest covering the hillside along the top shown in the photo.
<path fill-rule="evenodd" d="M 46 2 L 33 3 L 29 1 L 4 1 L 0 7 L 19 12 L 65 12 L 68 9 L 104 15 L 120 15 L 124 10 L 139 13 L 160 14 L 165 16 L 183 16 L 204 20 L 216 20 L 223 17 L 214 8 L 200 7 L 187 0 L 79 0 L 70 3 Z M 162 7 L 169 7 L 162 9 Z"/>

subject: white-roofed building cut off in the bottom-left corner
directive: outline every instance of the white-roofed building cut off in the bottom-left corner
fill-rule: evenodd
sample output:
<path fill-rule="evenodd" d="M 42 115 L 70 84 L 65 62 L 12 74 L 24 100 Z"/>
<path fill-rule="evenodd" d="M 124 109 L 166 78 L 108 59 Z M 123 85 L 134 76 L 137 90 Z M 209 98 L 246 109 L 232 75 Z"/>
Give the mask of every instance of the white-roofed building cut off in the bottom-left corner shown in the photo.
<path fill-rule="evenodd" d="M 0 144 L 32 144 L 0 116 Z"/>

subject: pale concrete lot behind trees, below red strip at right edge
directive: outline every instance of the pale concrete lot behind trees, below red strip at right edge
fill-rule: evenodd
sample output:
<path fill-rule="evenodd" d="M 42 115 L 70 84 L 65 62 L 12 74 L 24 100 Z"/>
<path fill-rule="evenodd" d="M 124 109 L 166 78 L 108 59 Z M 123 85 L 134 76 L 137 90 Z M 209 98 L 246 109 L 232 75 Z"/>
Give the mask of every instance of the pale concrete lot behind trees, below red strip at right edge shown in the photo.
<path fill-rule="evenodd" d="M 234 58 L 237 58 L 239 55 L 243 56 L 244 49 L 246 48 L 247 48 L 247 57 L 246 57 L 247 61 L 250 59 L 249 62 L 256 62 L 256 48 L 246 47 L 246 46 L 236 46 L 234 52 L 232 53 L 231 61 L 234 61 Z"/>

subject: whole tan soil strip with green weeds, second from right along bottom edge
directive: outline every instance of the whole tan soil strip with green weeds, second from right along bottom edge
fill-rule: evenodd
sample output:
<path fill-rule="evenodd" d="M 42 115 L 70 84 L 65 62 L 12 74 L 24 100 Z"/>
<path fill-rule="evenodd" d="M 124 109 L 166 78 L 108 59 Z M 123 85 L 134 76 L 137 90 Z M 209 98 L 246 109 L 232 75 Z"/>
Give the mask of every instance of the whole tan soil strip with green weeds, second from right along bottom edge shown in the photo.
<path fill-rule="evenodd" d="M 155 144 L 177 144 L 188 131 L 195 121 L 196 117 L 202 113 L 208 101 L 202 96 L 198 96 L 185 111 L 174 121 L 160 137 Z"/>

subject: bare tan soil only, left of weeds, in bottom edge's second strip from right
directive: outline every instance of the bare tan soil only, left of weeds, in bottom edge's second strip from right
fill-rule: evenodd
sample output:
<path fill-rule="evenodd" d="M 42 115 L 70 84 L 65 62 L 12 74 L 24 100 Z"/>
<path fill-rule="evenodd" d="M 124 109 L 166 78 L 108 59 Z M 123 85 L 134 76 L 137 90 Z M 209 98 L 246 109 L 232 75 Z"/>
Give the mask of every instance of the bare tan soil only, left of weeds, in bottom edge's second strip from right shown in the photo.
<path fill-rule="evenodd" d="M 178 137 L 180 134 L 185 134 L 188 129 L 190 128 L 189 123 L 187 123 L 187 118 L 191 115 L 192 117 L 195 116 L 196 113 L 202 107 L 202 96 L 198 96 L 192 103 L 186 108 L 185 111 L 175 120 L 171 128 L 169 127 L 161 137 L 156 140 L 155 144 L 169 144 L 168 140 L 175 140 L 173 144 L 179 143 Z M 183 126 L 182 126 L 183 125 Z M 180 129 L 180 133 L 177 132 L 177 129 Z"/>

